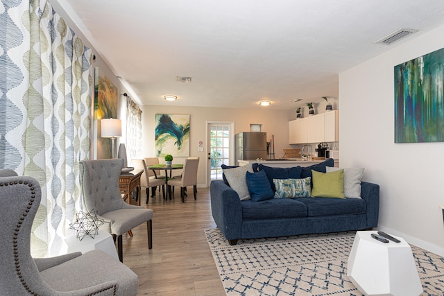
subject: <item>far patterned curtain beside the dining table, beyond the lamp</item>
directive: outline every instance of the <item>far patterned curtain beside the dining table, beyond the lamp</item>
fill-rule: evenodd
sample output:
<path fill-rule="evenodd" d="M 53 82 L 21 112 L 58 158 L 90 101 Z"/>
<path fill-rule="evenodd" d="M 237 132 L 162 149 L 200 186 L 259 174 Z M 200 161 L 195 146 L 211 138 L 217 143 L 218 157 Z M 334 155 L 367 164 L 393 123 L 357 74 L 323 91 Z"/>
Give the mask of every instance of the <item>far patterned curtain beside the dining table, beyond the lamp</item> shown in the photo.
<path fill-rule="evenodd" d="M 130 97 L 126 99 L 126 151 L 129 159 L 142 157 L 142 110 Z"/>

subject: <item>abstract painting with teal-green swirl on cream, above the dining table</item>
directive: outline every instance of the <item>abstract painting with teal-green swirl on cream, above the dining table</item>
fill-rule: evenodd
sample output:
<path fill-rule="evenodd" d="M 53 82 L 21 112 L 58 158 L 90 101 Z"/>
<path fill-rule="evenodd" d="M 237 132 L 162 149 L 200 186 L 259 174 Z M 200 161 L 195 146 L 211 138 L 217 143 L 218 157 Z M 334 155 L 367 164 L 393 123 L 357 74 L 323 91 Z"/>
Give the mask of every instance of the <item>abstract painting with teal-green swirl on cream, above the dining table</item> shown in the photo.
<path fill-rule="evenodd" d="M 156 156 L 189 157 L 189 115 L 155 114 Z"/>

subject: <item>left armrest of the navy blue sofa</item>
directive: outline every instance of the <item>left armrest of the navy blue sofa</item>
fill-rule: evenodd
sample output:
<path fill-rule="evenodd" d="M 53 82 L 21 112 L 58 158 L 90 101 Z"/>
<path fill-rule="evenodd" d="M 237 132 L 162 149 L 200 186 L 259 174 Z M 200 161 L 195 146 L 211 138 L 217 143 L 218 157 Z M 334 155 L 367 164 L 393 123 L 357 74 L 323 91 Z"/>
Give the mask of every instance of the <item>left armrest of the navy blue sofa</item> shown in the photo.
<path fill-rule="evenodd" d="M 242 205 L 239 195 L 222 180 L 210 184 L 211 212 L 225 238 L 235 240 L 242 234 Z"/>

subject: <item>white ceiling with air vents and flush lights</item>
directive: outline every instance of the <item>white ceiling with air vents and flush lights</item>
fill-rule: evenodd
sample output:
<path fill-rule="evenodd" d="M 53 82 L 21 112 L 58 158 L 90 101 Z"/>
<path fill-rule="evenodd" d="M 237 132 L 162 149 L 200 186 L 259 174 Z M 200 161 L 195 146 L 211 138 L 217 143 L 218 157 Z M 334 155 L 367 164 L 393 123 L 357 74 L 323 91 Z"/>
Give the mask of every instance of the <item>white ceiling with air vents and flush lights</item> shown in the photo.
<path fill-rule="evenodd" d="M 53 1 L 149 105 L 290 109 L 338 98 L 338 73 L 444 24 L 442 0 Z M 419 31 L 373 44 L 398 28 Z"/>

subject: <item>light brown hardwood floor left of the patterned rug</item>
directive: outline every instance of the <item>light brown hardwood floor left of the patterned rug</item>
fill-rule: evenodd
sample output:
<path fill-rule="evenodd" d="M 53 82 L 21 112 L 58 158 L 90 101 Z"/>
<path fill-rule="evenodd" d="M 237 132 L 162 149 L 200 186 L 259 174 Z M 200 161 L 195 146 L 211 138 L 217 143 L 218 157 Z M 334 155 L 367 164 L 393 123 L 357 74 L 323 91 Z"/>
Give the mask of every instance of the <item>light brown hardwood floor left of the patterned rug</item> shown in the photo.
<path fill-rule="evenodd" d="M 146 223 L 123 235 L 123 263 L 139 276 L 138 295 L 225 295 L 204 229 L 216 224 L 211 215 L 210 189 L 199 188 L 194 200 L 188 187 L 185 203 L 180 189 L 172 200 L 162 192 L 142 206 L 154 210 L 153 249 L 148 250 Z"/>

